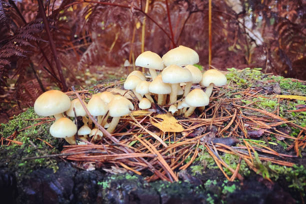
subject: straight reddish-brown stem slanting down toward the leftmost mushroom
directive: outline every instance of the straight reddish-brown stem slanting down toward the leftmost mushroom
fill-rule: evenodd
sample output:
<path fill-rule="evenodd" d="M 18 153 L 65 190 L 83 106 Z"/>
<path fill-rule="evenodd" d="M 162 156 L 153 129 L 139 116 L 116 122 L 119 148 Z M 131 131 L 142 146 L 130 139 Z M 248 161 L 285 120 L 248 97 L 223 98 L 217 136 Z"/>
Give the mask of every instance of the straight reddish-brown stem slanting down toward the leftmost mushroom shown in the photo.
<path fill-rule="evenodd" d="M 52 35 L 51 35 L 49 23 L 48 23 L 48 20 L 46 18 L 45 12 L 44 12 L 43 4 L 42 4 L 41 0 L 37 0 L 37 1 L 38 1 L 39 12 L 41 13 L 42 21 L 43 21 L 43 24 L 44 24 L 44 28 L 45 28 L 45 31 L 48 35 L 50 48 L 51 48 L 52 54 L 54 55 L 54 60 L 55 60 L 58 75 L 59 75 L 59 78 L 60 78 L 60 81 L 61 81 L 61 84 L 62 84 L 62 88 L 63 88 L 64 91 L 67 91 L 68 88 L 67 88 L 65 79 L 63 77 L 63 74 L 62 74 L 62 70 L 61 70 L 60 63 L 59 63 L 59 60 L 58 60 L 58 56 L 57 56 L 57 53 L 56 53 L 55 44 L 54 44 L 54 41 L 53 41 L 53 38 L 52 38 Z"/>

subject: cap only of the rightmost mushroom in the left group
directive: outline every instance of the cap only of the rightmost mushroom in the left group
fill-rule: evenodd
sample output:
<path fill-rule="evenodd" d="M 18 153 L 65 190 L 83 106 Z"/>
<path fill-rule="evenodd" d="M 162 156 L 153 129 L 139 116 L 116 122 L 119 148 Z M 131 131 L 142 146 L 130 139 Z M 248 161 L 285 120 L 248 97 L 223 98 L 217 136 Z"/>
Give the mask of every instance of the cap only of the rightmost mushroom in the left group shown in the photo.
<path fill-rule="evenodd" d="M 116 95 L 109 103 L 109 115 L 112 117 L 120 117 L 128 114 L 130 110 L 134 109 L 133 104 L 127 98 Z"/>

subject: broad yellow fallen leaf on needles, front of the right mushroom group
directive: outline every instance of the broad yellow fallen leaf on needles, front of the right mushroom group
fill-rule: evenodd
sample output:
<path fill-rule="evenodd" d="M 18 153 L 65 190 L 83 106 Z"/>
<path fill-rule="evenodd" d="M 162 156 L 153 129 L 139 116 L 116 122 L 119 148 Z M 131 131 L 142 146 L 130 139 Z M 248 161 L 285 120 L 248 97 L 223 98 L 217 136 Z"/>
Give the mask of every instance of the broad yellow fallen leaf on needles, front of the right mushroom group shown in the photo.
<path fill-rule="evenodd" d="M 156 121 L 153 118 L 162 119 L 162 121 Z M 163 132 L 181 132 L 184 130 L 170 113 L 157 114 L 153 118 L 150 117 L 151 124 Z"/>

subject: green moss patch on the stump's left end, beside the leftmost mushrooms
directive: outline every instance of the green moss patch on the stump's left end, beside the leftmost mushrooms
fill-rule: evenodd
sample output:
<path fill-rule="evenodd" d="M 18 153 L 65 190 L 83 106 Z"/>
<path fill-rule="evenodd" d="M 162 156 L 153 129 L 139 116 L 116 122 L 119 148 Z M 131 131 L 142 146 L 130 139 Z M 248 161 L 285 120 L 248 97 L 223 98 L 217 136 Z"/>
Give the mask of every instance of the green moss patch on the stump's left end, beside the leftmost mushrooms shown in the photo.
<path fill-rule="evenodd" d="M 54 171 L 57 169 L 56 160 L 54 158 L 36 158 L 27 159 L 26 157 L 42 156 L 51 153 L 58 153 L 56 148 L 51 148 L 45 142 L 37 139 L 45 140 L 52 146 L 57 146 L 60 142 L 49 134 L 49 126 L 51 123 L 44 123 L 37 126 L 34 124 L 40 120 L 27 120 L 39 118 L 35 114 L 32 107 L 28 108 L 25 112 L 14 116 L 6 124 L 1 124 L 0 135 L 4 138 L 10 136 L 15 130 L 21 130 L 25 127 L 31 127 L 22 130 L 16 134 L 14 140 L 22 142 L 22 145 L 11 143 L 9 146 L 0 146 L 0 168 L 7 171 L 14 171 L 17 175 L 27 174 L 34 169 L 40 167 L 50 167 Z"/>

